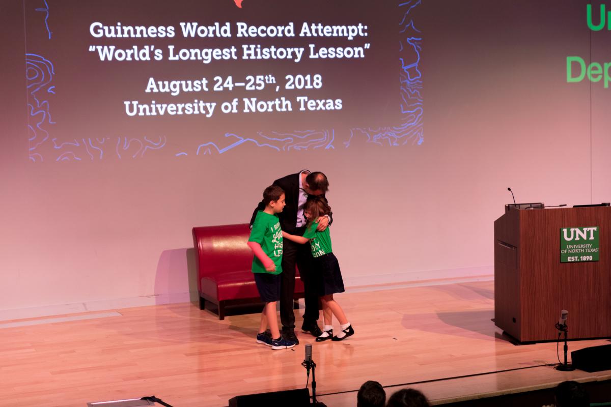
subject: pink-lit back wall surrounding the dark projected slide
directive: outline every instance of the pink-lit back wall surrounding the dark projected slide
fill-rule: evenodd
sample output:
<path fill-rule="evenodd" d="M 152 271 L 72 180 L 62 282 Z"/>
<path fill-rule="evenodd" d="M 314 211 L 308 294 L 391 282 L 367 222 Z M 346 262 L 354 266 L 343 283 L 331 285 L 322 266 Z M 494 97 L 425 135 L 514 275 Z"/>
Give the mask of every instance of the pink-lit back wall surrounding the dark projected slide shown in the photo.
<path fill-rule="evenodd" d="M 184 301 L 191 228 L 247 222 L 262 189 L 301 168 L 329 177 L 334 250 L 353 283 L 492 274 L 508 186 L 518 201 L 610 201 L 611 91 L 566 84 L 566 56 L 589 55 L 585 2 L 433 3 L 420 11 L 420 146 L 40 164 L 27 159 L 23 8 L 6 2 L 0 310 Z M 599 34 L 604 62 L 611 34 Z"/>

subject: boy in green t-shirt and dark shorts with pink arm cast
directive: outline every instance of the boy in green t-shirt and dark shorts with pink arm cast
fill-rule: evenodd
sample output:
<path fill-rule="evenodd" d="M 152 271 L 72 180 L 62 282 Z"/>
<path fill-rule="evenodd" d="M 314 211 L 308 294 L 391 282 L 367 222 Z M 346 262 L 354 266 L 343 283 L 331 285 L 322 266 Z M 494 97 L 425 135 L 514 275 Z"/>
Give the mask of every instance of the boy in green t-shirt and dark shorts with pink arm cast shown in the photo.
<path fill-rule="evenodd" d="M 257 212 L 252 224 L 248 246 L 255 257 L 252 259 L 252 273 L 265 308 L 261 313 L 261 324 L 257 344 L 271 346 L 273 350 L 292 348 L 295 342 L 280 336 L 276 303 L 280 300 L 280 273 L 282 273 L 282 230 L 278 215 L 285 206 L 282 188 L 271 185 L 263 191 L 265 209 Z M 271 337 L 266 334 L 269 326 Z M 274 339 L 276 338 L 276 339 Z"/>

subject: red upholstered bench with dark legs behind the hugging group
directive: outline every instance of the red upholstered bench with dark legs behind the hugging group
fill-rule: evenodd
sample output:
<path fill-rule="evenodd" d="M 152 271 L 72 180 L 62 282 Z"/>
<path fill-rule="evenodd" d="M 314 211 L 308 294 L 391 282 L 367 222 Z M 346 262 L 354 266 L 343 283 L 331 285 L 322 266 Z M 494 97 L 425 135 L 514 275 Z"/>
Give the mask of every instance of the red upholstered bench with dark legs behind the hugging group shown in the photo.
<path fill-rule="evenodd" d="M 199 308 L 204 309 L 205 301 L 216 304 L 219 319 L 225 319 L 225 306 L 261 302 L 251 272 L 253 254 L 246 245 L 250 234 L 247 223 L 193 228 Z M 303 297 L 296 272 L 295 300 Z"/>

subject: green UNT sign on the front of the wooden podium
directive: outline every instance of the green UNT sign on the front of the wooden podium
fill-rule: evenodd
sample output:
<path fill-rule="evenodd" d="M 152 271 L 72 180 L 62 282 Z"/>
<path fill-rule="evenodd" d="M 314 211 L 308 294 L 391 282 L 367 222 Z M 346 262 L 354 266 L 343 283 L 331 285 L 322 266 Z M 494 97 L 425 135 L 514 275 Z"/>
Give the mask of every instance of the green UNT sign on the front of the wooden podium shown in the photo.
<path fill-rule="evenodd" d="M 598 226 L 560 228 L 560 262 L 598 261 Z"/>

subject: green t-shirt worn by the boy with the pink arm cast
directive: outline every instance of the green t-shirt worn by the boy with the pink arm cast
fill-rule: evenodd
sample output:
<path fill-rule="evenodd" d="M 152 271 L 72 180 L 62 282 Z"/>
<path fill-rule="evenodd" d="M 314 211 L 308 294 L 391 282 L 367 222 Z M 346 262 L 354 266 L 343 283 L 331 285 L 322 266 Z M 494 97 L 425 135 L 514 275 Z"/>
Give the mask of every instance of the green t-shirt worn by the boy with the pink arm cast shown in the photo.
<path fill-rule="evenodd" d="M 263 211 L 257 212 L 248 241 L 259 243 L 263 253 L 267 254 L 276 264 L 275 272 L 266 272 L 263 263 L 255 256 L 252 259 L 253 273 L 282 273 L 282 229 L 280 229 L 278 215 L 266 214 Z"/>

